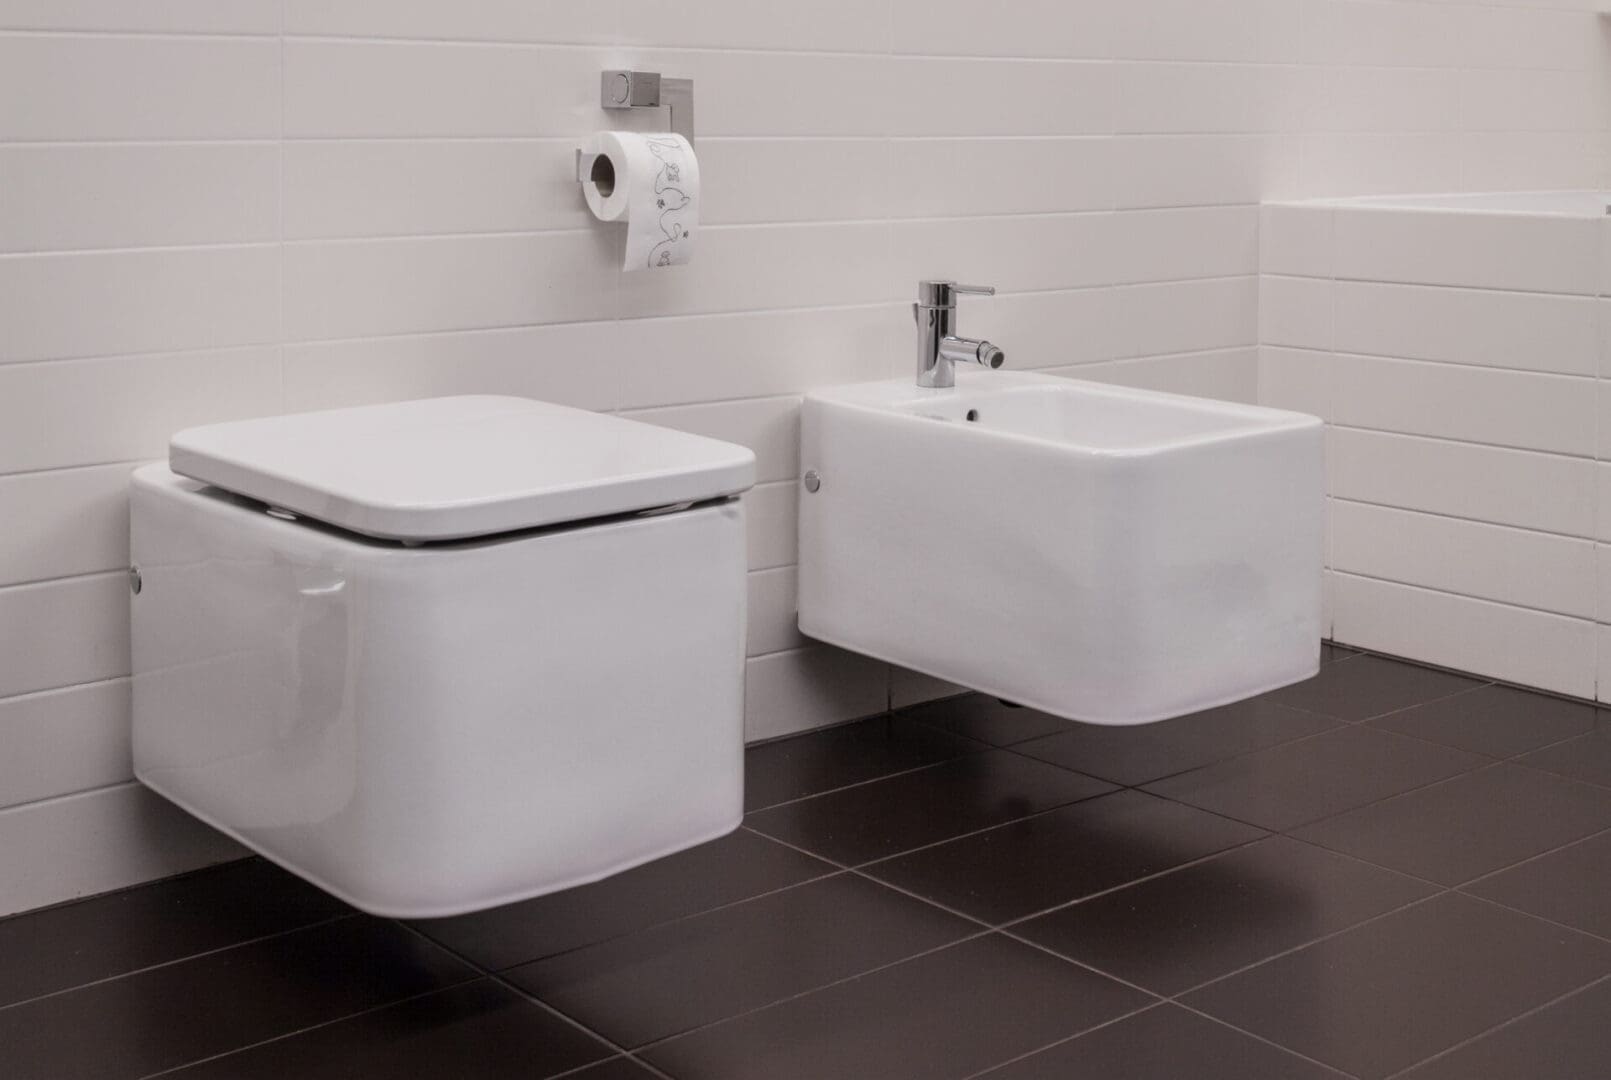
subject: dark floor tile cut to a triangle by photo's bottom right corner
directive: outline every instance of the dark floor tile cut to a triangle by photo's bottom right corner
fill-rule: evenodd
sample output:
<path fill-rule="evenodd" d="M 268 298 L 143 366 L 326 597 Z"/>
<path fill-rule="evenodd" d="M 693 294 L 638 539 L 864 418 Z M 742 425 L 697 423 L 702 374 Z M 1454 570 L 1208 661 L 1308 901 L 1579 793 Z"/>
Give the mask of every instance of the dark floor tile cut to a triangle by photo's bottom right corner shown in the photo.
<path fill-rule="evenodd" d="M 1508 1024 L 1403 1080 L 1605 1080 L 1611 1077 L 1611 982 Z"/>

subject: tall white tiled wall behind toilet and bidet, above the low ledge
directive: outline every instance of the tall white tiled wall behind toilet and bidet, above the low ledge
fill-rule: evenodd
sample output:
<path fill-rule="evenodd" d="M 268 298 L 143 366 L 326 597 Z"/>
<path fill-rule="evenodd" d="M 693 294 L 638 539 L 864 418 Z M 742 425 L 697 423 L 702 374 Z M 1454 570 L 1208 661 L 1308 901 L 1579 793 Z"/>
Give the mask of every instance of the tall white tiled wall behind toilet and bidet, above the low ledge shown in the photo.
<path fill-rule="evenodd" d="M 912 701 L 793 629 L 797 395 L 905 374 L 954 276 L 1017 368 L 1250 400 L 1257 205 L 1598 182 L 1592 6 L 0 0 L 0 912 L 230 851 L 129 785 L 119 488 L 174 429 L 506 392 L 748 442 L 752 735 Z M 609 66 L 696 82 L 685 271 L 570 182 Z"/>

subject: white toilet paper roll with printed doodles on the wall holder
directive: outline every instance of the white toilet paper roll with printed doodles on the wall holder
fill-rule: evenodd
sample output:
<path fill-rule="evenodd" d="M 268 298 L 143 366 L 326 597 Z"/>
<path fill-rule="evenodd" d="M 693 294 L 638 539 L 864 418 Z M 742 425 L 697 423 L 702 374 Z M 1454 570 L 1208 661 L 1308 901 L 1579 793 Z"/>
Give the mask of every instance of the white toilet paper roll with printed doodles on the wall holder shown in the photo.
<path fill-rule="evenodd" d="M 582 148 L 582 190 L 599 221 L 627 222 L 622 269 L 681 266 L 699 226 L 699 160 L 675 134 L 599 132 Z"/>

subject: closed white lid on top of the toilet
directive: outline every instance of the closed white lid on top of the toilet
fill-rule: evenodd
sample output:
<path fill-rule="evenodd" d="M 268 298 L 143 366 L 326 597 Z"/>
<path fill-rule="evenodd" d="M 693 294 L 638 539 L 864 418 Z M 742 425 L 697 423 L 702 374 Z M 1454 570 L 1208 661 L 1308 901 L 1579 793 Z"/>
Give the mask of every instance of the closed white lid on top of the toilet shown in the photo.
<path fill-rule="evenodd" d="M 738 495 L 746 447 L 511 397 L 192 427 L 180 476 L 390 540 L 458 540 Z"/>

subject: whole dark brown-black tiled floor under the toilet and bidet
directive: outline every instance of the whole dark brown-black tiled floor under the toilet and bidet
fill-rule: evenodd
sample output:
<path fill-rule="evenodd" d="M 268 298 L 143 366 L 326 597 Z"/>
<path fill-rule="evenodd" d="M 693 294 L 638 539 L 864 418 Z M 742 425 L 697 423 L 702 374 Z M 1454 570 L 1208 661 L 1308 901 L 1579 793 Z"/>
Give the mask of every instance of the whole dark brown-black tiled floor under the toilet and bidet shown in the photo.
<path fill-rule="evenodd" d="M 0 1077 L 1611 1077 L 1611 714 L 1327 648 L 1142 729 L 749 751 L 736 833 L 478 916 L 235 862 L 0 920 Z"/>

